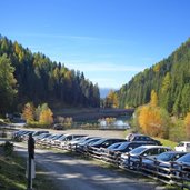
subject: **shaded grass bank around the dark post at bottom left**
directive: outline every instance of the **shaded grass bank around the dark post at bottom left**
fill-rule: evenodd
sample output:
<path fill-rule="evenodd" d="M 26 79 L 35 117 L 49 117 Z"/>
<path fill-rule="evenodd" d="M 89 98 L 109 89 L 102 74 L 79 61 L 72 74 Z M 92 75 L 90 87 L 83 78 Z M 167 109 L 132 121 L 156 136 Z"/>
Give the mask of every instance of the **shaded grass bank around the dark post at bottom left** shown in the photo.
<path fill-rule="evenodd" d="M 26 190 L 26 160 L 16 153 L 11 157 L 4 157 L 0 151 L 0 189 L 3 190 Z M 54 190 L 54 186 L 42 172 L 37 168 L 36 179 L 33 179 L 33 190 Z"/>

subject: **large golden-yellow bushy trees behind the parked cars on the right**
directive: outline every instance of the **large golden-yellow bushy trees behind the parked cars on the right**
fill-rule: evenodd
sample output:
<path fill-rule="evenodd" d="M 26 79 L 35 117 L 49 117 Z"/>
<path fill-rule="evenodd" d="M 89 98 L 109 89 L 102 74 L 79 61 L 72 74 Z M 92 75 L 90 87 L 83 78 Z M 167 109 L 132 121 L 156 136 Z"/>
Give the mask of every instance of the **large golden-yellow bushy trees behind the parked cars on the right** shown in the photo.
<path fill-rule="evenodd" d="M 169 139 L 176 142 L 190 139 L 190 111 L 183 118 L 170 117 L 169 112 L 158 106 L 158 96 L 151 91 L 150 102 L 138 107 L 131 126 L 148 136 Z"/>

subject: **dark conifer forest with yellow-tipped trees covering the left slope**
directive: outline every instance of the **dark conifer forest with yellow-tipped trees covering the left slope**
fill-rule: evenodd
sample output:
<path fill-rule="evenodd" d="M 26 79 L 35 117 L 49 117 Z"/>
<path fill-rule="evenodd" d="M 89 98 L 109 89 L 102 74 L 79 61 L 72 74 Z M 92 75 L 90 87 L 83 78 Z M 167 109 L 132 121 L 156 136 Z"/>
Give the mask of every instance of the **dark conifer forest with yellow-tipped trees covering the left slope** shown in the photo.
<path fill-rule="evenodd" d="M 53 47 L 52 47 L 53 48 Z M 12 108 L 22 108 L 26 102 L 34 104 L 48 102 L 52 106 L 99 107 L 100 93 L 98 84 L 87 80 L 82 72 L 69 70 L 60 62 L 51 61 L 42 53 L 32 53 L 17 41 L 12 42 L 0 36 L 0 82 L 4 80 L 3 63 L 10 66 L 7 73 L 13 74 L 12 89 L 17 93 L 8 93 L 13 99 Z M 2 76 L 1 76 L 2 74 Z M 0 84 L 0 101 L 8 102 L 4 89 Z M 4 93 L 3 96 L 1 93 Z M 7 111 L 7 103 L 1 104 L 0 113 Z"/>

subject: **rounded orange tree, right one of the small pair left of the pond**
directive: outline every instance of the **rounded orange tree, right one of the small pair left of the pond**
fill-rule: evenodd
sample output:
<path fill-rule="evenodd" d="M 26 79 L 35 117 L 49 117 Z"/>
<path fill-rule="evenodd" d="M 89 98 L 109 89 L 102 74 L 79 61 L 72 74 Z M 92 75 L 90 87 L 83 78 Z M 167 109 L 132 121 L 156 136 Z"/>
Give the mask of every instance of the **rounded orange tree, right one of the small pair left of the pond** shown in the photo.
<path fill-rule="evenodd" d="M 47 108 L 40 112 L 40 123 L 52 124 L 53 123 L 53 113 L 50 108 Z"/>

